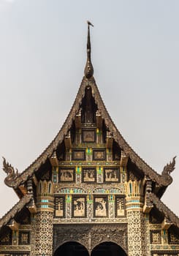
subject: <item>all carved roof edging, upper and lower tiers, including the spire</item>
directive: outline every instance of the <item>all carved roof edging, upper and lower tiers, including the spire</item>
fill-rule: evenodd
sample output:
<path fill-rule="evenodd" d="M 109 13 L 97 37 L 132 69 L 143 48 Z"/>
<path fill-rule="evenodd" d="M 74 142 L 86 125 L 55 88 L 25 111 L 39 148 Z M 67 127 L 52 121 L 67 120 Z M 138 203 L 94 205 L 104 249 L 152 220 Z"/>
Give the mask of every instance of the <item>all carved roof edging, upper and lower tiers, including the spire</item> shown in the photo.
<path fill-rule="evenodd" d="M 126 140 L 121 135 L 121 132 L 119 132 L 117 127 L 115 127 L 115 124 L 112 118 L 110 117 L 110 114 L 107 112 L 107 109 L 104 105 L 98 87 L 96 85 L 96 81 L 93 77 L 94 69 L 91 64 L 91 42 L 89 31 L 90 25 L 92 24 L 88 22 L 87 62 L 85 66 L 85 76 L 83 77 L 80 88 L 77 92 L 75 102 L 73 103 L 72 108 L 69 111 L 69 115 L 66 117 L 64 124 L 62 125 L 60 131 L 52 140 L 50 145 L 47 146 L 47 148 L 45 148 L 42 154 L 40 154 L 39 157 L 37 157 L 37 159 L 35 159 L 34 162 L 32 162 L 31 165 L 28 166 L 26 170 L 24 170 L 22 173 L 18 173 L 18 171 L 15 171 L 12 165 L 9 165 L 9 163 L 6 162 L 6 160 L 4 159 L 4 171 L 7 173 L 7 177 L 5 178 L 4 182 L 5 184 L 7 184 L 7 186 L 13 187 L 14 189 L 18 189 L 18 187 L 21 184 L 24 184 L 28 180 L 28 178 L 34 176 L 34 174 L 39 171 L 39 168 L 43 164 L 45 164 L 45 162 L 47 162 L 47 160 L 50 159 L 50 157 L 53 156 L 58 146 L 64 141 L 64 138 L 68 134 L 69 129 L 72 127 L 72 123 L 73 121 L 75 121 L 75 116 L 79 113 L 83 97 L 85 97 L 85 89 L 88 87 L 91 87 L 92 97 L 94 97 L 94 101 L 96 103 L 98 112 L 102 116 L 107 130 L 110 132 L 110 135 L 113 136 L 115 142 L 118 143 L 118 146 L 121 148 L 121 151 L 123 151 L 123 154 L 129 157 L 131 162 L 137 166 L 137 168 L 144 174 L 144 176 L 150 178 L 154 183 L 158 184 L 159 187 L 165 188 L 172 182 L 172 177 L 170 176 L 170 173 L 172 172 L 172 170 L 175 169 L 175 157 L 173 158 L 172 162 L 170 162 L 170 164 L 164 167 L 164 170 L 160 175 L 155 170 L 153 170 L 153 168 L 150 167 L 131 148 L 131 146 L 129 146 L 129 143 L 126 142 Z M 4 225 L 7 225 L 9 220 L 13 219 L 20 210 L 25 208 L 27 204 L 31 201 L 32 197 L 33 195 L 26 195 L 25 192 L 20 201 L 15 206 L 13 206 L 12 209 L 8 211 L 7 214 L 4 215 L 4 217 L 0 219 L 0 229 Z M 151 200 L 151 203 L 153 203 L 153 205 L 160 212 L 162 212 L 164 216 L 170 219 L 172 224 L 178 227 L 179 229 L 178 217 L 175 216 L 175 214 L 173 214 L 172 211 L 169 208 L 167 208 L 167 206 L 165 206 L 164 203 L 161 202 L 159 197 L 151 193 L 149 195 L 149 198 Z"/>

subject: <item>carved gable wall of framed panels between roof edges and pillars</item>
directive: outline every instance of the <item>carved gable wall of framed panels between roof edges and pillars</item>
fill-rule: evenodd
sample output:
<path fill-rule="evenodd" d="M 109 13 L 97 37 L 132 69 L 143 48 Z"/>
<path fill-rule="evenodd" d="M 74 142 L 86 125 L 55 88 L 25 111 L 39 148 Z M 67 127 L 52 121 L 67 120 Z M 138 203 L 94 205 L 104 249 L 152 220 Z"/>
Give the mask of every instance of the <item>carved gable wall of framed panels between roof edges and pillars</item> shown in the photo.
<path fill-rule="evenodd" d="M 127 159 L 104 124 L 92 95 L 85 89 L 80 108 L 63 141 L 50 159 L 53 165 L 57 219 L 86 222 L 125 217 Z M 58 220 L 59 222 L 59 220 Z"/>

